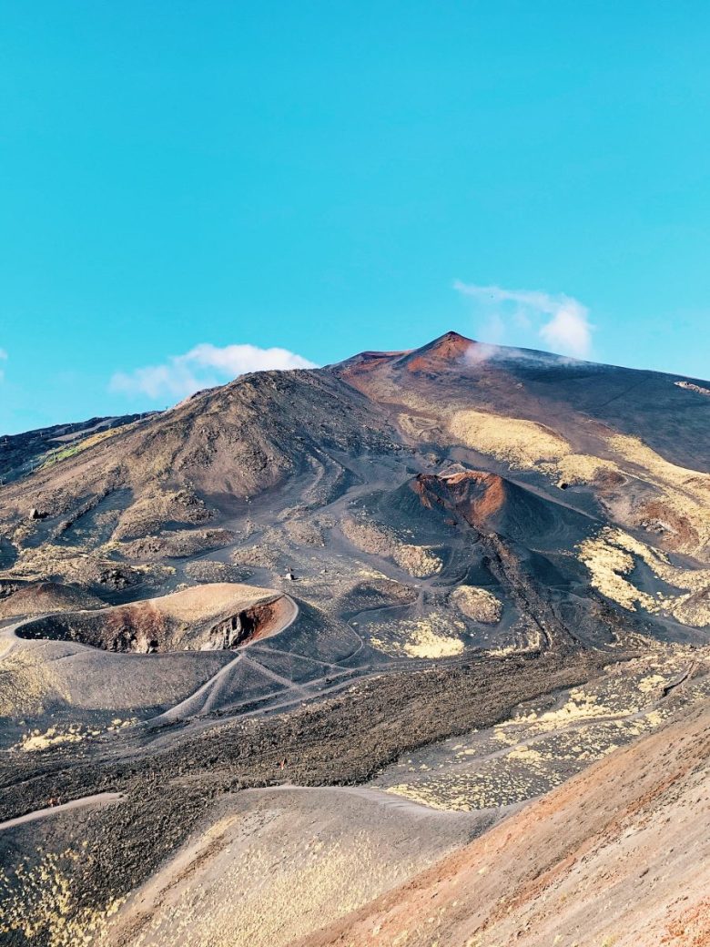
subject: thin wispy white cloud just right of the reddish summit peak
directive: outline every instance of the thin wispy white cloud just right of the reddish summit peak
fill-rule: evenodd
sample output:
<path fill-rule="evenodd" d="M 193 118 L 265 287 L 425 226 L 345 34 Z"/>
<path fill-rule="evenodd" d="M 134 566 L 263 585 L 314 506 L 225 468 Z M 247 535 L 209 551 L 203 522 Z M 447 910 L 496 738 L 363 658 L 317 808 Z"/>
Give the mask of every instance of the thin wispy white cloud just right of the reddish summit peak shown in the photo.
<path fill-rule="evenodd" d="M 573 296 L 550 295 L 538 290 L 506 290 L 501 286 L 475 286 L 456 280 L 453 288 L 471 296 L 488 312 L 489 325 L 495 337 L 486 341 L 500 344 L 504 315 L 501 310 L 512 305 L 514 326 L 521 331 L 535 331 L 546 347 L 563 355 L 586 358 L 592 351 L 592 326 L 589 310 Z M 490 320 L 493 320 L 492 322 Z"/>

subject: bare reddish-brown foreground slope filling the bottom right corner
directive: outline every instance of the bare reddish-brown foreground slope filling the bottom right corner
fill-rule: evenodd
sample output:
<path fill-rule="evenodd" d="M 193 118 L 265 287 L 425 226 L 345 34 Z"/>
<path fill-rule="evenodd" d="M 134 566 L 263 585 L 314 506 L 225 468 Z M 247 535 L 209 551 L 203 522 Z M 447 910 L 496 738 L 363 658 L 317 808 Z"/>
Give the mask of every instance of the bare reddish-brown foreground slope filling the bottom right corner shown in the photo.
<path fill-rule="evenodd" d="M 710 709 L 683 712 L 303 947 L 701 947 Z"/>

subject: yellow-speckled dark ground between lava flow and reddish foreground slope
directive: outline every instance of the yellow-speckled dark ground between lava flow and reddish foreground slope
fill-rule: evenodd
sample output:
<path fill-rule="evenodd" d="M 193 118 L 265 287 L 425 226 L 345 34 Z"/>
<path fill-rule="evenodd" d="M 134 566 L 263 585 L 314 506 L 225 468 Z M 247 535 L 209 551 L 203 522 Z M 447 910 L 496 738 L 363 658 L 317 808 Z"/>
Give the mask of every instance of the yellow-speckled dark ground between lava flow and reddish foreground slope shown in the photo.
<path fill-rule="evenodd" d="M 659 645 L 651 655 L 570 688 L 560 706 L 548 709 L 546 696 L 520 706 L 492 729 L 414 751 L 388 767 L 374 785 L 454 811 L 497 808 L 541 795 L 665 723 L 678 702 L 661 701 L 661 686 L 699 659 L 698 649 Z M 689 705 L 706 701 L 709 692 L 710 680 L 701 673 L 679 694 Z"/>

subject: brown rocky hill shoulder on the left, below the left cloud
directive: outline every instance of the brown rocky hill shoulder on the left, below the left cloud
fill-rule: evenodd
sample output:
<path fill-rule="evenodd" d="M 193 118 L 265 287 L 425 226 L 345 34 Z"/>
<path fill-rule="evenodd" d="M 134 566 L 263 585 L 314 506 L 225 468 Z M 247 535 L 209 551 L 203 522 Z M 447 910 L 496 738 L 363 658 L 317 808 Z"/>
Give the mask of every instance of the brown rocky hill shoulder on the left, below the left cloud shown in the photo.
<path fill-rule="evenodd" d="M 16 549 L 170 539 L 293 481 L 318 502 L 346 478 L 331 455 L 386 453 L 393 434 L 327 372 L 246 375 L 9 484 L 3 535 Z"/>

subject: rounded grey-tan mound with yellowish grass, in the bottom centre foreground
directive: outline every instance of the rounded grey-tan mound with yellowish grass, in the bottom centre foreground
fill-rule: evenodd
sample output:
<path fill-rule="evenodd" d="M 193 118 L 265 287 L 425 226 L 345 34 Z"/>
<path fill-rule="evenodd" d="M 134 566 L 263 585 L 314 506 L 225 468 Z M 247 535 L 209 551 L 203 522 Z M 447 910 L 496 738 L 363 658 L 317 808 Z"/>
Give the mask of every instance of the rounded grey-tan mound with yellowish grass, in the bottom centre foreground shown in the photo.
<path fill-rule="evenodd" d="M 233 805 L 126 904 L 112 947 L 286 947 L 465 837 L 427 813 L 412 831 L 399 807 L 347 790 L 262 790 Z"/>

